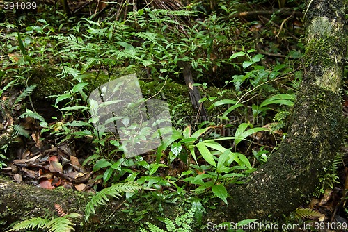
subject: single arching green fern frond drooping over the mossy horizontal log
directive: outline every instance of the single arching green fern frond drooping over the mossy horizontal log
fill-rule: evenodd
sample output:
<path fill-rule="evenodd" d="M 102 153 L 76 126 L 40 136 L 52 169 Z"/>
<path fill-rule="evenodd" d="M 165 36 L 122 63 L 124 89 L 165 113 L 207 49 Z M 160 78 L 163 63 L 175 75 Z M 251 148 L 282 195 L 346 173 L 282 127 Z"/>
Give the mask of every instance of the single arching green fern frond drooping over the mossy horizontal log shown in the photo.
<path fill-rule="evenodd" d="M 135 182 L 127 182 L 127 183 L 116 183 L 109 188 L 104 188 L 95 196 L 93 196 L 88 204 L 86 205 L 85 210 L 85 221 L 88 221 L 88 218 L 93 213 L 95 214 L 95 207 L 106 205 L 109 200 L 109 197 L 118 198 L 121 196 L 120 192 L 136 192 L 136 190 L 146 189 L 140 186 Z"/>

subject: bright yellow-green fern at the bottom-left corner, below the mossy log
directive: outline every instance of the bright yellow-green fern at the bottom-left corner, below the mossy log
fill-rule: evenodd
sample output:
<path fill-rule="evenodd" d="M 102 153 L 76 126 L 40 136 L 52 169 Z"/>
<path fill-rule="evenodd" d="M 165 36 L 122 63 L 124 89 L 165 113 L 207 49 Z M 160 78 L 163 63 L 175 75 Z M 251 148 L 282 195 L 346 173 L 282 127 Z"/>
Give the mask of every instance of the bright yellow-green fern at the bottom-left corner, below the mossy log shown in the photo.
<path fill-rule="evenodd" d="M 47 229 L 48 232 L 69 232 L 74 231 L 74 228 L 72 226 L 75 226 L 74 223 L 70 222 L 69 218 L 79 217 L 81 217 L 79 213 L 69 213 L 67 215 L 64 215 L 63 217 L 56 217 L 51 220 L 47 218 L 42 219 L 41 217 L 33 217 L 15 224 L 15 226 L 13 226 L 13 229 L 10 229 L 9 231 Z"/>

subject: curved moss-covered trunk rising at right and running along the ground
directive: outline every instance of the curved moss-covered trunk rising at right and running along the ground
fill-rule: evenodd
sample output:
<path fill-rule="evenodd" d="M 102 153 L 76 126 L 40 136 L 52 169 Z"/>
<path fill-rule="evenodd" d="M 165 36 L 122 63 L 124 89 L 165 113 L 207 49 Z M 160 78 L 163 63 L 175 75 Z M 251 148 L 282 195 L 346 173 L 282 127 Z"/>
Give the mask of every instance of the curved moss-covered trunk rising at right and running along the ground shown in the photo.
<path fill-rule="evenodd" d="M 228 186 L 232 197 L 228 206 L 208 210 L 203 224 L 236 222 L 246 218 L 269 219 L 270 215 L 278 218 L 296 209 L 306 199 L 303 196 L 315 190 L 319 174 L 331 164 L 342 137 L 340 86 L 347 42 L 344 19 L 345 11 L 340 0 L 308 2 L 303 83 L 287 138 L 246 184 Z M 47 215 L 47 212 L 54 212 L 54 203 L 57 202 L 69 212 L 83 213 L 86 195 L 65 192 L 1 181 L 0 219 L 10 223 L 22 219 L 22 213 L 26 217 Z M 143 222 L 153 221 L 156 214 L 160 214 L 159 208 L 164 209 L 162 217 L 175 217 L 183 207 L 182 204 L 164 202 L 123 203 L 116 201 L 103 214 L 107 220 L 99 219 L 104 226 L 111 226 L 108 227 L 111 231 L 118 231 L 114 226 L 121 226 L 123 229 L 120 231 L 134 231 L 136 222 L 139 223 L 133 220 L 135 218 L 142 218 Z M 93 231 L 98 225 L 89 224 L 81 230 Z"/>

